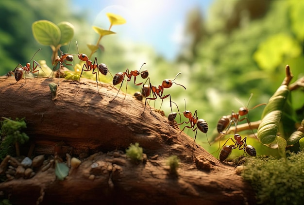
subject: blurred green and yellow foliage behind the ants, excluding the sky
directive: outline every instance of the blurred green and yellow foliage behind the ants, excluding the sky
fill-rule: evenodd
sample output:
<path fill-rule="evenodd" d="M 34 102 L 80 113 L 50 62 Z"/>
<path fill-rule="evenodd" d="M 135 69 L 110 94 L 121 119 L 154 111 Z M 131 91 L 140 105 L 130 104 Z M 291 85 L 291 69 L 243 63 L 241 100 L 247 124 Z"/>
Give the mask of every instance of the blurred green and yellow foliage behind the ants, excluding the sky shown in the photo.
<path fill-rule="evenodd" d="M 71 4 L 72 1 L 59 0 L 0 1 L 0 75 L 13 70 L 18 63 L 25 64 L 41 48 L 31 31 L 32 23 L 40 19 L 73 24 L 75 36 L 69 53 L 77 52 L 76 40 L 79 52 L 89 53 L 86 45 L 96 42 L 98 36 L 87 20 L 86 11 L 73 11 Z M 285 77 L 286 64 L 294 75 L 292 82 L 304 75 L 303 11 L 304 2 L 298 0 L 215 0 L 206 18 L 199 8 L 188 12 L 183 50 L 175 61 L 166 60 L 147 45 L 119 41 L 118 35 L 109 35 L 101 42 L 105 51 L 97 51 L 92 57 L 98 56 L 98 63 L 105 63 L 112 74 L 126 68 L 139 69 L 144 59 L 149 59 L 143 69 L 149 70 L 152 85 L 172 80 L 182 72 L 175 82 L 186 86 L 186 90 L 173 84 L 164 95 L 170 94 L 180 111 L 184 111 L 186 99 L 187 110 L 193 113 L 197 110 L 199 118 L 208 122 L 210 139 L 217 136 L 216 125 L 220 117 L 242 106 L 236 98 L 247 106 L 250 93 L 253 93 L 249 108 L 268 102 Z M 37 53 L 35 60 L 39 59 L 51 65 L 51 50 Z M 102 76 L 101 81 L 112 82 L 112 78 Z M 130 94 L 139 89 L 132 84 L 128 86 Z M 303 102 L 303 90 L 292 91 L 292 108 L 303 109 Z M 157 99 L 155 108 L 160 104 L 161 100 Z M 176 112 L 177 108 L 172 106 Z M 164 99 L 161 108 L 169 114 L 169 98 Z M 263 106 L 250 110 L 249 120 L 260 120 L 262 111 Z M 301 120 L 303 111 L 300 110 L 297 121 Z M 191 129 L 185 129 L 185 132 L 192 136 Z M 240 134 L 244 137 L 247 133 Z M 210 147 L 201 132 L 197 142 L 209 152 L 219 147 L 218 143 Z M 265 146 L 256 140 L 251 144 L 255 148 L 261 147 L 261 150 L 257 148 L 258 155 L 264 152 Z"/>

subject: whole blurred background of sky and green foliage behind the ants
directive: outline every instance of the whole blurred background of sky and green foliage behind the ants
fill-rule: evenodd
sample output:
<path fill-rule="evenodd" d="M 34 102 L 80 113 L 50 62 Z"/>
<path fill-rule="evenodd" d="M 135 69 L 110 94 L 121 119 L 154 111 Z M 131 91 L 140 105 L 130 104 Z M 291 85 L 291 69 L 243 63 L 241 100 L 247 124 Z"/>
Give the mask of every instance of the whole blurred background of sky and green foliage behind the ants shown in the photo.
<path fill-rule="evenodd" d="M 108 12 L 127 23 L 113 26 L 117 34 L 102 38 L 104 51 L 94 54 L 98 62 L 112 74 L 139 69 L 145 62 L 152 85 L 182 72 L 175 82 L 186 90 L 173 84 L 164 94 L 171 95 L 180 111 L 185 110 L 184 99 L 187 110 L 197 110 L 209 124 L 209 141 L 217 136 L 220 117 L 237 111 L 240 102 L 247 106 L 251 93 L 249 108 L 268 102 L 284 79 L 286 64 L 294 74 L 292 82 L 304 75 L 304 1 L 299 0 L 1 0 L 0 75 L 18 63 L 25 65 L 39 48 L 34 59 L 46 60 L 52 68 L 51 48 L 33 37 L 34 21 L 72 23 L 75 36 L 61 50 L 77 53 L 77 40 L 79 51 L 89 53 L 86 44 L 98 39 L 92 26 L 108 29 Z M 128 93 L 139 89 L 131 81 Z M 295 109 L 303 107 L 303 91 L 292 98 Z M 156 109 L 160 102 L 156 100 Z M 161 109 L 169 114 L 169 98 Z M 172 109 L 177 112 L 176 106 Z M 249 120 L 259 120 L 262 110 L 250 110 Z M 193 136 L 190 129 L 185 132 Z M 219 146 L 210 148 L 200 131 L 197 142 L 210 152 Z"/>

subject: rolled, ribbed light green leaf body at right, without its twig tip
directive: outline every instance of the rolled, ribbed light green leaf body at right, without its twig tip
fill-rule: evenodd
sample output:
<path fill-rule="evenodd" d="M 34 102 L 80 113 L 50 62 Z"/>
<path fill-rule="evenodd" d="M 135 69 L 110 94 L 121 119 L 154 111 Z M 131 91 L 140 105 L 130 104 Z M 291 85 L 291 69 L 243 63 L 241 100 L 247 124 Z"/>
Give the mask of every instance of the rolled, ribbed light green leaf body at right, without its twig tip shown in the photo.
<path fill-rule="evenodd" d="M 262 120 L 257 130 L 257 137 L 261 143 L 269 144 L 275 140 L 288 94 L 288 86 L 281 85 L 264 108 Z"/>

